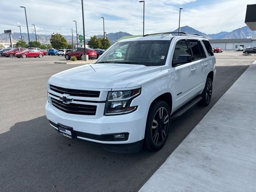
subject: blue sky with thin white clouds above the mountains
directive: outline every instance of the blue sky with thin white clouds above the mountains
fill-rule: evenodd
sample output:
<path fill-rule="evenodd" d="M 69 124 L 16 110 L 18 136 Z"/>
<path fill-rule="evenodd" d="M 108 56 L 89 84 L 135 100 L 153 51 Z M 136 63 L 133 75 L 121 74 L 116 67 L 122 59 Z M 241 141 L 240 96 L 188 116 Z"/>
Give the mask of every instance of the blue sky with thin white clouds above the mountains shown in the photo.
<path fill-rule="evenodd" d="M 212 34 L 232 31 L 245 26 L 247 4 L 255 0 L 145 0 L 145 33 L 172 31 L 178 28 L 179 8 L 181 26 L 188 25 L 201 32 Z M 6 29 L 19 32 L 17 25 L 26 32 L 24 9 L 26 6 L 29 31 L 38 34 L 71 34 L 77 21 L 82 34 L 81 0 L 12 0 L 0 1 L 0 33 Z M 86 37 L 105 31 L 142 34 L 143 4 L 138 0 L 84 0 Z"/>

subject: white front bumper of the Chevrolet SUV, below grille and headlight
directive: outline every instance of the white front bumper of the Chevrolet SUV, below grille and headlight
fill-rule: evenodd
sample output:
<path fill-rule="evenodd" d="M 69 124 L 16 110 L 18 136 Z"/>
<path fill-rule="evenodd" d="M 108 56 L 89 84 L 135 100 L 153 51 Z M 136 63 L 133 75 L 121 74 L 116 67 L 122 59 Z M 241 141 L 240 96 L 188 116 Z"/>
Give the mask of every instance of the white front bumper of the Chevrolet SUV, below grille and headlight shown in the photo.
<path fill-rule="evenodd" d="M 72 127 L 77 132 L 77 138 L 99 144 L 117 146 L 132 144 L 142 141 L 144 138 L 148 105 L 138 106 L 138 109 L 129 114 L 116 116 L 101 116 L 96 119 L 73 117 L 58 112 L 58 109 L 46 103 L 46 117 L 50 124 L 58 130 L 58 123 Z M 128 133 L 128 139 L 122 141 L 101 140 L 102 135 Z"/>

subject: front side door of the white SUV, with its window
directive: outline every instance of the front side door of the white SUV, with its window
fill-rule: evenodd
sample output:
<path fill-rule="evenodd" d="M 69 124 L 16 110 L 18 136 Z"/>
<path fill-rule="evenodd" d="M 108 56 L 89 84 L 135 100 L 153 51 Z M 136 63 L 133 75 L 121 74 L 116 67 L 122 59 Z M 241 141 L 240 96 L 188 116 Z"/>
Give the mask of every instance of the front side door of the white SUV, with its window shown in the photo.
<path fill-rule="evenodd" d="M 179 56 L 191 55 L 186 39 L 178 40 L 174 48 L 172 57 L 172 67 L 174 68 L 175 80 L 175 107 L 179 108 L 194 96 L 196 86 L 196 67 L 192 62 L 175 64 Z"/>

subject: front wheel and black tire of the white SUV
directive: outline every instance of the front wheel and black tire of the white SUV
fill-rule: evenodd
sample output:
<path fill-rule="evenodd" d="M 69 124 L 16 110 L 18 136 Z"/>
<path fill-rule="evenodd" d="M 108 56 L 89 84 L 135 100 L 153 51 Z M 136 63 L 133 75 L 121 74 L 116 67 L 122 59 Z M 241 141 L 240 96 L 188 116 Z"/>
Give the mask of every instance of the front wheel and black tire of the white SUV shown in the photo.
<path fill-rule="evenodd" d="M 170 109 L 168 104 L 164 101 L 152 103 L 148 111 L 144 147 L 151 151 L 160 150 L 167 140 L 169 129 Z"/>

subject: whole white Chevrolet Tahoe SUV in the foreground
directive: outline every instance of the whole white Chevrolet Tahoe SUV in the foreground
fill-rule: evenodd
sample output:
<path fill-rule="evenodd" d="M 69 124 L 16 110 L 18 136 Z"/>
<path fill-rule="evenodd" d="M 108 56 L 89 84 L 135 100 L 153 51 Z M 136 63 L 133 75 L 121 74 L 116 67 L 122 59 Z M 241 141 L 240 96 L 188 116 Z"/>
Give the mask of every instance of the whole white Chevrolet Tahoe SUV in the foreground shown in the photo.
<path fill-rule="evenodd" d="M 114 152 L 162 148 L 173 118 L 210 103 L 216 73 L 206 38 L 172 34 L 121 40 L 95 64 L 53 75 L 45 106 L 50 125 Z"/>

